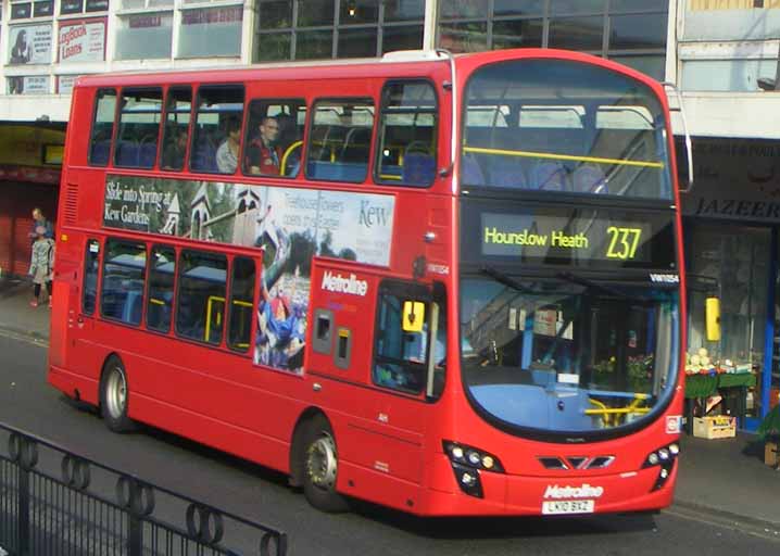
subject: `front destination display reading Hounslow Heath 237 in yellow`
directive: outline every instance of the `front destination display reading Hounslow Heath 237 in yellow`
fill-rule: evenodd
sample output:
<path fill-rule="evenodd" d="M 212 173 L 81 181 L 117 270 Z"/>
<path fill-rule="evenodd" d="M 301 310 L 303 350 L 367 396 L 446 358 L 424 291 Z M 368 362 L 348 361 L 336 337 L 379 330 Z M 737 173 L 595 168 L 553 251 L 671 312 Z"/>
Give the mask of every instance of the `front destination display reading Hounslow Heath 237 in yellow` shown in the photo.
<path fill-rule="evenodd" d="M 465 262 L 675 268 L 671 213 L 464 203 Z"/>

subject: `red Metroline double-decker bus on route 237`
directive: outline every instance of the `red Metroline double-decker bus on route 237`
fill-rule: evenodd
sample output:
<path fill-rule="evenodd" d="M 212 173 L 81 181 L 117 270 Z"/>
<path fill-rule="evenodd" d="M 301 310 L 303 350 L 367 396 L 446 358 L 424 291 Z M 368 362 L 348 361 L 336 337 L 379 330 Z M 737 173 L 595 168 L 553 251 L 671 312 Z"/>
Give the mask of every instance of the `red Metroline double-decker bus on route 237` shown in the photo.
<path fill-rule="evenodd" d="M 663 87 L 555 50 L 80 78 L 49 381 L 316 507 L 670 504 Z"/>

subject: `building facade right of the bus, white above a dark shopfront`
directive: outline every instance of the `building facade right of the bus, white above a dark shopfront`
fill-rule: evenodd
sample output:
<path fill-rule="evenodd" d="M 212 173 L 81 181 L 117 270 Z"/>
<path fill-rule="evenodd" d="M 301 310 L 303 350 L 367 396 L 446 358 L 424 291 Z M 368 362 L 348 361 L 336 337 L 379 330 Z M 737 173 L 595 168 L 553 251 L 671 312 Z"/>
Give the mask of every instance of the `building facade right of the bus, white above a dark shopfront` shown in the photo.
<path fill-rule="evenodd" d="M 754 429 L 780 393 L 780 0 L 682 0 L 676 10 L 667 80 L 682 90 L 694 161 L 682 195 L 689 353 L 752 369 L 742 425 Z M 704 333 L 713 294 L 718 342 Z"/>

